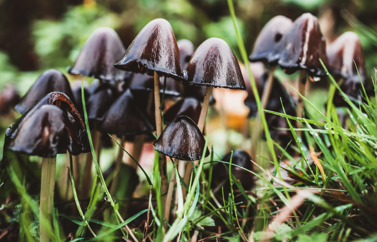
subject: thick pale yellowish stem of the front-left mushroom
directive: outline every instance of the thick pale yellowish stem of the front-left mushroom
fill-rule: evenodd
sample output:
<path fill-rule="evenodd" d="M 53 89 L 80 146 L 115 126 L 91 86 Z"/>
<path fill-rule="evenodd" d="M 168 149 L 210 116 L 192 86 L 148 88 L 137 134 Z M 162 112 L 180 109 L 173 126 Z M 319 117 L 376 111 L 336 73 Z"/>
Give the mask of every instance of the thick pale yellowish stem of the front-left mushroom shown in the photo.
<path fill-rule="evenodd" d="M 41 197 L 39 206 L 39 235 L 41 242 L 49 242 L 50 236 L 47 232 L 51 224 L 52 200 L 54 200 L 55 189 L 56 156 L 42 158 L 41 174 Z"/>

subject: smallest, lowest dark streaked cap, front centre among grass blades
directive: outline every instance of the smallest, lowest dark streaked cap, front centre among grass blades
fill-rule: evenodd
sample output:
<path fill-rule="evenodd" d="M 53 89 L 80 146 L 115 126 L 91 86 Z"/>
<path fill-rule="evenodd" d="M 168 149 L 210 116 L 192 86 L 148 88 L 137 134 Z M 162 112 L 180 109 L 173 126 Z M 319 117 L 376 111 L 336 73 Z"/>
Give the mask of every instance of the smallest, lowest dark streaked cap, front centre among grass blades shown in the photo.
<path fill-rule="evenodd" d="M 173 119 L 153 145 L 159 153 L 179 160 L 200 160 L 204 148 L 205 157 L 210 154 L 198 126 L 187 116 Z"/>

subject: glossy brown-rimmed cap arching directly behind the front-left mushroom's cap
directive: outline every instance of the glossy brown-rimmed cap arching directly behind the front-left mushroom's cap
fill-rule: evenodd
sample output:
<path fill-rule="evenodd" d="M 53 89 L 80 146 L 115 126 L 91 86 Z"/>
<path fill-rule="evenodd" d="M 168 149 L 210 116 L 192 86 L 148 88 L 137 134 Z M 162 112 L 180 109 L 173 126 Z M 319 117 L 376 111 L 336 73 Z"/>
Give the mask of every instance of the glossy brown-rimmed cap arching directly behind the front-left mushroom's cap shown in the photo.
<path fill-rule="evenodd" d="M 69 97 L 62 92 L 50 92 L 44 96 L 37 104 L 35 104 L 31 109 L 26 111 L 20 118 L 18 118 L 14 124 L 8 127 L 6 130 L 6 138 L 13 139 L 15 133 L 20 129 L 21 124 L 29 118 L 36 110 L 38 110 L 43 105 L 60 105 L 60 109 L 67 116 L 68 120 L 71 123 L 71 126 L 74 128 L 78 139 L 81 142 L 82 153 L 90 151 L 89 140 L 85 128 L 83 119 L 81 118 L 80 113 L 75 108 L 75 105 L 70 101 Z"/>

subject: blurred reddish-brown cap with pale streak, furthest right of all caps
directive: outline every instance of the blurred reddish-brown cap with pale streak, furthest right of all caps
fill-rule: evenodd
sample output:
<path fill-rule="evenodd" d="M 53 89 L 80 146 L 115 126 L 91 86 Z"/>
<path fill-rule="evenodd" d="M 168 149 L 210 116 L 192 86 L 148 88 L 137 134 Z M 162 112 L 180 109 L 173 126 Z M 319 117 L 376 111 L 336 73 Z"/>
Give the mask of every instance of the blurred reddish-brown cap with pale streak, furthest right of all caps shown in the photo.
<path fill-rule="evenodd" d="M 359 79 L 358 70 L 364 82 L 364 53 L 359 36 L 356 33 L 345 32 L 340 35 L 333 43 L 328 45 L 327 57 L 331 73 L 345 79 L 352 78 L 353 76 L 357 76 L 357 79 Z"/>

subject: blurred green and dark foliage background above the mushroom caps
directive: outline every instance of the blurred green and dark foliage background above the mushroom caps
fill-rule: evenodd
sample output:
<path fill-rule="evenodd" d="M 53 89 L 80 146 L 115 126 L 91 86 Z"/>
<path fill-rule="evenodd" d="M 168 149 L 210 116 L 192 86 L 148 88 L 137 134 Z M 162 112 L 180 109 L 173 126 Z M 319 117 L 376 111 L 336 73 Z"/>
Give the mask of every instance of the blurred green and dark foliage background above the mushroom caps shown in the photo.
<path fill-rule="evenodd" d="M 360 35 L 368 73 L 376 67 L 375 35 L 363 35 L 349 25 L 348 11 L 377 31 L 372 0 L 236 0 L 238 25 L 248 53 L 257 34 L 270 18 L 285 15 L 296 19 L 304 12 L 317 17 L 331 12 L 333 38 L 348 30 Z M 190 39 L 197 47 L 210 37 L 238 48 L 225 0 L 0 0 L 0 88 L 16 82 L 21 95 L 42 71 L 65 71 L 72 65 L 86 39 L 101 26 L 112 27 L 127 48 L 150 20 L 165 18 L 178 39 Z"/>

